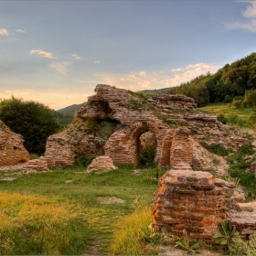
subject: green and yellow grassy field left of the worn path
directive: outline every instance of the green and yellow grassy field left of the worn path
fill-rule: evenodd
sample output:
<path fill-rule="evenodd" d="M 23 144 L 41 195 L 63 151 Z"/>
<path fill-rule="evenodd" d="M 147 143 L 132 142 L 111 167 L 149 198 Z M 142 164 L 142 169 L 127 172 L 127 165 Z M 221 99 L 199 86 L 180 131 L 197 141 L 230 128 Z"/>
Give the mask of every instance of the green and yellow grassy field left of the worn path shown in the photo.
<path fill-rule="evenodd" d="M 157 168 L 152 168 L 135 176 L 131 167 L 120 167 L 111 172 L 87 174 L 83 167 L 72 167 L 30 175 L 14 171 L 0 173 L 0 178 L 16 177 L 13 182 L 0 182 L 0 204 L 5 197 L 11 198 L 8 202 L 15 202 L 0 207 L 0 227 L 7 223 L 5 231 L 0 233 L 0 236 L 8 234 L 1 239 L 5 254 L 95 254 L 95 248 L 96 254 L 107 253 L 113 233 L 123 219 L 133 214 L 135 202 L 152 206 L 158 188 L 156 172 Z M 161 170 L 160 176 L 164 172 Z M 65 183 L 66 180 L 72 180 L 72 183 Z M 30 197 L 32 203 L 28 207 L 26 201 Z M 118 197 L 125 203 L 102 205 L 99 197 Z M 24 208 L 31 214 L 26 215 Z M 45 221 L 41 229 L 35 228 L 39 225 L 37 216 L 43 214 L 44 208 L 48 208 L 49 213 L 59 212 L 59 224 L 56 225 L 62 228 L 54 226 L 54 219 L 58 219 L 55 215 L 42 217 L 51 221 Z M 6 218 L 1 218 L 3 216 Z M 63 218 L 67 219 L 67 226 L 63 224 Z M 27 233 L 27 227 L 32 227 L 32 233 Z M 65 230 L 69 230 L 70 238 L 61 235 Z M 22 236 L 16 236 L 18 233 Z M 44 234 L 51 234 L 51 239 Z M 52 251 L 57 242 L 55 236 L 59 237 L 58 251 Z M 70 246 L 70 241 L 73 246 Z M 9 253 L 7 250 L 10 250 Z M 2 251 L 0 243 L 1 254 Z"/>

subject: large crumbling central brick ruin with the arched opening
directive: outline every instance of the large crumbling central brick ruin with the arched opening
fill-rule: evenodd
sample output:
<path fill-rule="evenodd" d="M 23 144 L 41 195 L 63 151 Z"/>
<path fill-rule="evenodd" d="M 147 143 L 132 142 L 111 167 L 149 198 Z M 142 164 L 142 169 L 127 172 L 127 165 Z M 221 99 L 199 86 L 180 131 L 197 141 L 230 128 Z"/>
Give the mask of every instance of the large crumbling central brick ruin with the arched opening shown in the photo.
<path fill-rule="evenodd" d="M 232 131 L 226 131 L 216 115 L 197 112 L 195 101 L 186 96 L 145 97 L 102 84 L 95 92 L 65 132 L 48 138 L 45 159 L 49 166 L 73 165 L 80 155 L 109 155 L 114 163 L 137 164 L 144 150 L 142 134 L 150 132 L 155 140 L 155 163 L 160 167 L 182 160 L 199 170 L 218 170 L 215 157 L 210 155 L 206 161 L 208 151 L 198 142 L 208 133 L 214 134 L 209 139 L 224 146 L 235 148 L 246 141 L 242 135 L 226 139 L 224 133 L 229 132 L 229 138 Z"/>

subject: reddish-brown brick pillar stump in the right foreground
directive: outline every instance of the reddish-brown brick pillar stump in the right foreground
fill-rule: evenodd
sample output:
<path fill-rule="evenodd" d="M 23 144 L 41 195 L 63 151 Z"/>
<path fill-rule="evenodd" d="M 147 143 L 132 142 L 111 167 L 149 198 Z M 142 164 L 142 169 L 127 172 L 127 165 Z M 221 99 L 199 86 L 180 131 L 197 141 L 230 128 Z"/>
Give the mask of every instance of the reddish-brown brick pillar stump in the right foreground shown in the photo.
<path fill-rule="evenodd" d="M 226 217 L 225 188 L 215 184 L 215 177 L 184 164 L 166 172 L 159 186 L 153 227 L 173 241 L 186 234 L 191 241 L 212 243 L 212 235 L 219 232 L 218 226 Z"/>

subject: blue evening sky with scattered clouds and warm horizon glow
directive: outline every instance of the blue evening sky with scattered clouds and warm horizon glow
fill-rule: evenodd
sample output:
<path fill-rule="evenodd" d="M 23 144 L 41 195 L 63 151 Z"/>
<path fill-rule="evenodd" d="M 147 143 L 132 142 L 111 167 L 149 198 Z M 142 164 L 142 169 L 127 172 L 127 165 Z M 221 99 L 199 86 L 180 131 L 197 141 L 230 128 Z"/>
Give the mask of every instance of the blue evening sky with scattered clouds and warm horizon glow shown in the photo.
<path fill-rule="evenodd" d="M 0 99 L 177 86 L 256 51 L 253 1 L 1 1 Z"/>

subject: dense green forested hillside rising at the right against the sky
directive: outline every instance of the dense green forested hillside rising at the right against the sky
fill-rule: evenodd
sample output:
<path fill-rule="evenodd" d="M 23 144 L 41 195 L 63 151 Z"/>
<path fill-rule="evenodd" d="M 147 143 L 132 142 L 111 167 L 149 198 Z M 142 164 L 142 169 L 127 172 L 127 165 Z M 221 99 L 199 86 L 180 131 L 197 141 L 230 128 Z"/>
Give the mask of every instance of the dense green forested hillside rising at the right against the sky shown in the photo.
<path fill-rule="evenodd" d="M 208 102 L 232 101 L 236 96 L 244 96 L 245 91 L 256 89 L 256 53 L 226 64 L 215 74 L 204 74 L 171 88 L 172 94 L 192 97 L 198 106 Z"/>

